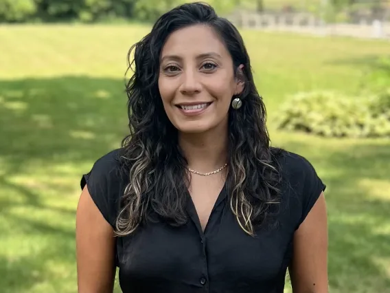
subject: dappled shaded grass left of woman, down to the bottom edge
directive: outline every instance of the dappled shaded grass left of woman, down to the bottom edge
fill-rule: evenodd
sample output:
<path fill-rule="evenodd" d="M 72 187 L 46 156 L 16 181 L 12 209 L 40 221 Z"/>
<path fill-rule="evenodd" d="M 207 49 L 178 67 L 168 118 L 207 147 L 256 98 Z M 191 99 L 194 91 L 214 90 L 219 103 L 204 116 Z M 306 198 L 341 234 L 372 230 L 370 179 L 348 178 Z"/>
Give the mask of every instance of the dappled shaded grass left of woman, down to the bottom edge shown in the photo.
<path fill-rule="evenodd" d="M 66 194 L 128 133 L 126 102 L 120 79 L 0 80 L 0 234 L 15 247 L 0 253 L 1 292 L 75 292 Z"/>

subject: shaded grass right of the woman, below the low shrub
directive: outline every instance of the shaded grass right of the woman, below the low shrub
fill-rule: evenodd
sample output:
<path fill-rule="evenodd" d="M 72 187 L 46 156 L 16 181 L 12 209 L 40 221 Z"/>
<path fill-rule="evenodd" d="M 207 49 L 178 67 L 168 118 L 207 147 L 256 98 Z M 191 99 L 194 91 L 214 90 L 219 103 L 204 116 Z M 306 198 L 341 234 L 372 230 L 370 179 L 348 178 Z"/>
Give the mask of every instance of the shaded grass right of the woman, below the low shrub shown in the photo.
<path fill-rule="evenodd" d="M 378 184 L 390 186 L 390 142 L 314 152 L 292 140 L 284 147 L 306 156 L 328 186 L 331 292 L 390 292 L 390 194 Z"/>

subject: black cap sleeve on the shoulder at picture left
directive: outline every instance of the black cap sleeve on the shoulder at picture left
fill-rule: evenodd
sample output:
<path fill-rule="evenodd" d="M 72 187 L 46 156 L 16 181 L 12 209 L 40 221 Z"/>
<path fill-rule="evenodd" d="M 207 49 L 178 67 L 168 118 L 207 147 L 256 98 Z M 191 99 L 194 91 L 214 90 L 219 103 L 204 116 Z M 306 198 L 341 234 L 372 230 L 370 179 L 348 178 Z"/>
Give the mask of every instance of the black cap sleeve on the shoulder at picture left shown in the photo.
<path fill-rule="evenodd" d="M 87 185 L 93 202 L 113 228 L 115 228 L 125 183 L 117 150 L 97 160 L 91 171 L 82 175 L 80 181 L 81 188 Z"/>

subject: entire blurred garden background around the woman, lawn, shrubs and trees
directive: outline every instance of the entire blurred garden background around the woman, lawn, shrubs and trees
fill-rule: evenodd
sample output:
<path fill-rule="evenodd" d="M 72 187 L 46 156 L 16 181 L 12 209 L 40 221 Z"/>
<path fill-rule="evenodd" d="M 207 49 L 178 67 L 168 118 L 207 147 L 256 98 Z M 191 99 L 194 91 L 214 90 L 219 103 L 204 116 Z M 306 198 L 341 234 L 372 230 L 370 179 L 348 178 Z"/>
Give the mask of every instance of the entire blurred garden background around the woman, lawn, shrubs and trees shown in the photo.
<path fill-rule="evenodd" d="M 129 47 L 183 2 L 0 0 L 1 292 L 77 292 L 81 175 L 127 134 Z M 389 293 L 390 2 L 206 2 L 244 37 L 273 145 L 328 186 L 330 292 Z"/>

